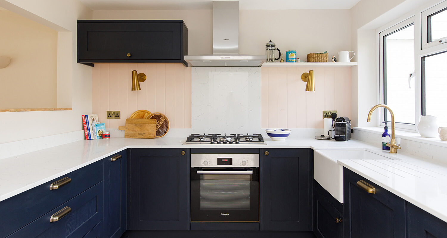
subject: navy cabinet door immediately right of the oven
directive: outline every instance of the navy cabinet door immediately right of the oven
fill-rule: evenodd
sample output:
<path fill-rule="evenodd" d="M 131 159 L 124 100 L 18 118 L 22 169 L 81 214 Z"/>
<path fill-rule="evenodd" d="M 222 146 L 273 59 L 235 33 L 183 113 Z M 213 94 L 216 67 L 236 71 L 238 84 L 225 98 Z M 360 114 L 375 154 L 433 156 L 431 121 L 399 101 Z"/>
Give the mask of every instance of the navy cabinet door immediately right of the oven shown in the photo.
<path fill-rule="evenodd" d="M 261 153 L 262 230 L 312 230 L 309 149 L 262 149 Z"/>

